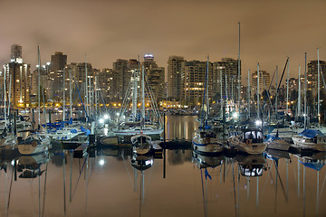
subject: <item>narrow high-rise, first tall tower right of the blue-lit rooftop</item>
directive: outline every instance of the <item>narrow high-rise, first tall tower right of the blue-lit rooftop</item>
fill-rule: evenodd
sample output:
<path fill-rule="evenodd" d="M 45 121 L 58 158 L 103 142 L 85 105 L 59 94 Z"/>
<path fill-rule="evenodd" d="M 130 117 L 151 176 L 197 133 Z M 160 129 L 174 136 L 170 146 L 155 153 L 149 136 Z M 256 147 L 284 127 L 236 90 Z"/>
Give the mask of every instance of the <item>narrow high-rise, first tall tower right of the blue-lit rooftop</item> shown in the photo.
<path fill-rule="evenodd" d="M 185 59 L 181 56 L 168 58 L 168 99 L 182 98 L 181 72 L 184 71 Z"/>

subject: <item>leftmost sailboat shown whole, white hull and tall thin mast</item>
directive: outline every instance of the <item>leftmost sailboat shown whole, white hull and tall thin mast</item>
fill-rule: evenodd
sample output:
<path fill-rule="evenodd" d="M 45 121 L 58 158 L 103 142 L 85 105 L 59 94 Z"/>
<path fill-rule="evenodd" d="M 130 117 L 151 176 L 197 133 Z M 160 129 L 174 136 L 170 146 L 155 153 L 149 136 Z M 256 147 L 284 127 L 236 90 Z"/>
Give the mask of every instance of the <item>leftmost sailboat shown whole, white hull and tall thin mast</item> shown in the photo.
<path fill-rule="evenodd" d="M 40 47 L 37 47 L 38 52 L 38 72 L 39 72 L 39 85 L 41 84 L 41 59 L 40 59 Z M 39 128 L 41 128 L 41 112 L 40 112 L 40 98 L 41 91 L 38 89 L 38 121 Z M 25 129 L 17 133 L 18 151 L 22 155 L 35 155 L 41 152 L 45 152 L 50 146 L 50 137 L 45 131 Z"/>

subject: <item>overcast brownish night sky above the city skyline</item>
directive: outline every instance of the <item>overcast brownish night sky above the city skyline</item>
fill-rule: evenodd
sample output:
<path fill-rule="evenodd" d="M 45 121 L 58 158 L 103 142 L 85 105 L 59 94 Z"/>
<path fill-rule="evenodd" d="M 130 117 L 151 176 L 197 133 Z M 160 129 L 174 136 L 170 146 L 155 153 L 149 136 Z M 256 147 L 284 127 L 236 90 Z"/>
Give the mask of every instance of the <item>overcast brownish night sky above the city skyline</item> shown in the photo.
<path fill-rule="evenodd" d="M 10 46 L 23 46 L 24 62 L 43 64 L 60 51 L 68 62 L 87 61 L 111 68 L 117 59 L 152 53 L 167 68 L 168 56 L 211 61 L 237 58 L 241 23 L 243 82 L 247 70 L 280 71 L 290 57 L 298 66 L 326 60 L 326 0 L 0 0 L 0 63 Z"/>

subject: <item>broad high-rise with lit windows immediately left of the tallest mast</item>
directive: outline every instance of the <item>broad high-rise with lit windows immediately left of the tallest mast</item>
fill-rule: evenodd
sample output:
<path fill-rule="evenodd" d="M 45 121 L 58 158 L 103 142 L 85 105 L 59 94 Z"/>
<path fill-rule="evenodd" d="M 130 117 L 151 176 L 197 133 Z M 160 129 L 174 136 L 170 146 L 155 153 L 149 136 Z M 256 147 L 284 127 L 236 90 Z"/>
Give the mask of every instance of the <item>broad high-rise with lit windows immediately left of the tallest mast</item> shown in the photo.
<path fill-rule="evenodd" d="M 222 58 L 221 61 L 215 61 L 213 63 L 212 93 L 213 96 L 216 96 L 216 101 L 221 99 L 221 90 L 224 100 L 237 101 L 240 78 L 238 76 L 238 60 Z"/>

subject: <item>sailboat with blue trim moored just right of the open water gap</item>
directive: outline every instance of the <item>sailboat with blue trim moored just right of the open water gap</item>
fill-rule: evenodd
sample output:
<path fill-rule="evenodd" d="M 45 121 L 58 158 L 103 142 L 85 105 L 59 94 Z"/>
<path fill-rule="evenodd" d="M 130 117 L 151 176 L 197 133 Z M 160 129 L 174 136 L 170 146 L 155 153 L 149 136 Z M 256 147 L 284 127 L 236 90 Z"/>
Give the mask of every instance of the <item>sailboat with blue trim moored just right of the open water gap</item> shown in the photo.
<path fill-rule="evenodd" d="M 201 111 L 200 125 L 198 129 L 194 132 L 194 137 L 192 139 L 192 144 L 194 151 L 202 155 L 218 155 L 223 152 L 223 143 L 217 138 L 216 133 L 211 129 L 211 126 L 207 124 L 207 118 L 209 113 L 209 103 L 208 103 L 208 61 L 207 56 L 207 66 L 205 75 L 205 89 L 203 96 L 203 106 Z"/>

